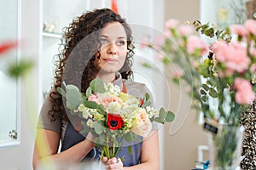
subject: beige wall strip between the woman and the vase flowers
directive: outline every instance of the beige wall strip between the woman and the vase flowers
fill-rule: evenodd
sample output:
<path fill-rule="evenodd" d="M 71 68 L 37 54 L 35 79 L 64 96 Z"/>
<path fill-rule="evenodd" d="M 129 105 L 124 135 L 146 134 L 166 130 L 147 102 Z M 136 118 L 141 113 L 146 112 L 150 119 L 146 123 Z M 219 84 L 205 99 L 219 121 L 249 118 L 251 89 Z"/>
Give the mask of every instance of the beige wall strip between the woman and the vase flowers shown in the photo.
<path fill-rule="evenodd" d="M 166 0 L 165 20 L 200 20 L 200 3 L 200 0 Z M 166 74 L 171 76 L 172 67 L 166 67 Z M 191 109 L 191 99 L 183 87 L 177 87 L 171 78 L 168 87 L 171 96 L 166 96 L 166 100 L 170 101 L 170 109 L 176 113 L 176 119 L 164 130 L 165 169 L 192 169 L 197 161 L 198 145 L 207 144 L 207 137 L 198 124 L 199 114 Z"/>

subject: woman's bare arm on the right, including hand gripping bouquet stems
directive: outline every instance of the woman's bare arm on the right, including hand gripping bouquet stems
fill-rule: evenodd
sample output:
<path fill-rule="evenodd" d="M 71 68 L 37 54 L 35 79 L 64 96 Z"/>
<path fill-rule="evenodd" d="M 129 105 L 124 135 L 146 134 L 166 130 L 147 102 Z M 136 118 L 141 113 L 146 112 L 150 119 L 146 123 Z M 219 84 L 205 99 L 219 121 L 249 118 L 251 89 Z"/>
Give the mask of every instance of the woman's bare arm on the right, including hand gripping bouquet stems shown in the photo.
<path fill-rule="evenodd" d="M 102 160 L 106 169 L 122 169 L 123 163 L 117 162 L 113 157 L 110 160 L 104 158 Z M 159 163 L 159 139 L 158 132 L 154 131 L 153 134 L 143 141 L 143 147 L 141 152 L 141 163 L 132 167 L 123 167 L 124 170 L 158 170 L 160 168 Z"/>

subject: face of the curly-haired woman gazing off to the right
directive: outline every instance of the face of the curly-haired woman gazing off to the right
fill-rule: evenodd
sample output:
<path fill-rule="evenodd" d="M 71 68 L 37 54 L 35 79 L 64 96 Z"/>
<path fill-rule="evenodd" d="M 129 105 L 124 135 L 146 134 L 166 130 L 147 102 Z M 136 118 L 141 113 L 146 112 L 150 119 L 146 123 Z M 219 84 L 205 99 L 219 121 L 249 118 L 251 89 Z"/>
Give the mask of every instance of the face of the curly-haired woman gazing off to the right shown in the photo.
<path fill-rule="evenodd" d="M 119 22 L 109 23 L 102 29 L 101 59 L 99 74 L 111 74 L 119 71 L 125 63 L 127 54 L 127 36 Z"/>

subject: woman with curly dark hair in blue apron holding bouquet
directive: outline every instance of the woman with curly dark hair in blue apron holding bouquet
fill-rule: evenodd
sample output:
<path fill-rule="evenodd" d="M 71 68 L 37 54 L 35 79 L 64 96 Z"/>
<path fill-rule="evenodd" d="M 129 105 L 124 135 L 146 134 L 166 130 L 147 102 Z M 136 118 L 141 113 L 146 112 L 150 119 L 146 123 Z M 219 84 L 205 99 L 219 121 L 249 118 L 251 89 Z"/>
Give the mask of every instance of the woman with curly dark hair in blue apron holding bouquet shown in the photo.
<path fill-rule="evenodd" d="M 119 14 L 108 8 L 95 9 L 73 20 L 64 33 L 63 49 L 57 55 L 59 62 L 54 87 L 45 99 L 38 119 L 34 169 L 44 161 L 79 163 L 100 157 L 100 149 L 95 147 L 92 135 L 89 133 L 84 137 L 80 134 L 80 124 L 68 116 L 62 97 L 56 92 L 61 83 L 74 84 L 85 92 L 90 81 L 98 77 L 137 97 L 149 93 L 144 84 L 129 80 L 134 54 L 131 28 Z M 58 151 L 60 141 L 61 152 Z M 159 168 L 157 132 L 131 148 L 132 155 L 127 148 L 119 151 L 118 156 L 125 158 L 123 161 L 118 157 L 103 157 L 106 169 Z"/>

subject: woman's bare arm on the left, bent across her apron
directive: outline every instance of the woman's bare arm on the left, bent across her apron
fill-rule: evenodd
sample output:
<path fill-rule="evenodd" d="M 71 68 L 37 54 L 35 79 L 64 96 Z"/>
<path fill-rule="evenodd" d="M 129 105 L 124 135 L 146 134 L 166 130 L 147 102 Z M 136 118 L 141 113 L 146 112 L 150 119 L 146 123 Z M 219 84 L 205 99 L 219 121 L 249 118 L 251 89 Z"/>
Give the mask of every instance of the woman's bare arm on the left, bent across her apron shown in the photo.
<path fill-rule="evenodd" d="M 34 154 L 33 169 L 37 169 L 40 164 L 45 163 L 79 163 L 84 159 L 90 150 L 94 147 L 94 143 L 90 138 L 84 139 L 79 144 L 73 145 L 68 150 L 58 153 L 60 142 L 60 134 L 46 129 L 38 129 Z"/>

